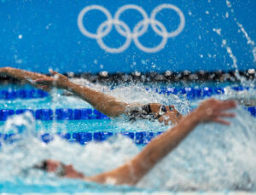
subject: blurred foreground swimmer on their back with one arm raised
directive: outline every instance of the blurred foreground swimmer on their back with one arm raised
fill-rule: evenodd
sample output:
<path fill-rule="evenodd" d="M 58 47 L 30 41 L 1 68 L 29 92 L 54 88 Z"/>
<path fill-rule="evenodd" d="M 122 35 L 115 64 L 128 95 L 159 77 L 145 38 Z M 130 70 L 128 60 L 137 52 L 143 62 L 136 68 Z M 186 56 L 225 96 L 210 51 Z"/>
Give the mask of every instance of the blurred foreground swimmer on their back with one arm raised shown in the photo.
<path fill-rule="evenodd" d="M 44 169 L 47 172 L 55 173 L 60 177 L 92 181 L 96 183 L 106 183 L 111 185 L 136 185 L 144 175 L 146 175 L 154 165 L 177 147 L 177 145 L 189 135 L 200 123 L 221 123 L 230 125 L 223 118 L 233 118 L 234 113 L 227 110 L 235 108 L 234 100 L 214 100 L 208 99 L 201 103 L 198 108 L 181 118 L 177 124 L 168 129 L 165 133 L 155 137 L 143 148 L 143 151 L 130 161 L 99 175 L 85 176 L 83 173 L 73 169 L 73 165 L 65 165 L 54 160 L 45 160 L 38 163 L 33 168 Z"/>

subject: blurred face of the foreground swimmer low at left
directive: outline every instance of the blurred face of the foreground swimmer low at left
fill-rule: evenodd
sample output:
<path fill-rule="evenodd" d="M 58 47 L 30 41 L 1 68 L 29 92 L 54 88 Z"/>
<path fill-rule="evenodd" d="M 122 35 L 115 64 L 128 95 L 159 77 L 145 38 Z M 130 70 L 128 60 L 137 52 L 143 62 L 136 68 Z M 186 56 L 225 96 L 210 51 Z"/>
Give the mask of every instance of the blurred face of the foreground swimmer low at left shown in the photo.
<path fill-rule="evenodd" d="M 79 171 L 73 169 L 72 164 L 64 165 L 58 161 L 47 160 L 47 171 L 57 173 L 59 169 L 62 169 L 64 177 L 69 178 L 83 178 L 84 175 Z"/>

